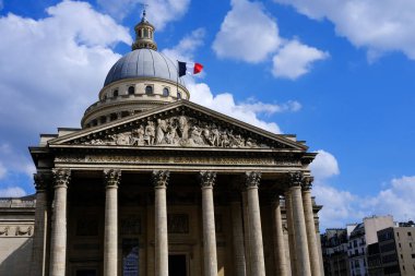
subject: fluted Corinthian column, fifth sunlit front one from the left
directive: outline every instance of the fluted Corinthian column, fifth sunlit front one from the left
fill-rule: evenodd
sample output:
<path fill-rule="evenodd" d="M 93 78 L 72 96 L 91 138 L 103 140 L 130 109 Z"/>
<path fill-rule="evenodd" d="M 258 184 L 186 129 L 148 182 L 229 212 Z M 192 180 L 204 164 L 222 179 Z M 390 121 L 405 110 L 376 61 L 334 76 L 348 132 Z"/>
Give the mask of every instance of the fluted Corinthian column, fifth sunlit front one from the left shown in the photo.
<path fill-rule="evenodd" d="M 263 257 L 261 213 L 258 195 L 258 187 L 261 172 L 250 171 L 246 173 L 247 200 L 248 200 L 248 220 L 250 224 L 250 264 L 251 276 L 265 276 L 265 263 Z"/>

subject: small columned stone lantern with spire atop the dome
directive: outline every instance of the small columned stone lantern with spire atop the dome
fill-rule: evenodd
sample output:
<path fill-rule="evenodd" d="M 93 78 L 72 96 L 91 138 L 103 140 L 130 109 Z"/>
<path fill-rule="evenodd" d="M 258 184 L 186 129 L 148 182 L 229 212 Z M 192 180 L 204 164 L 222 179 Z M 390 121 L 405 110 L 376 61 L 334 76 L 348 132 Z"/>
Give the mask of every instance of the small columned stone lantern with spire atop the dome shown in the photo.
<path fill-rule="evenodd" d="M 145 17 L 145 9 L 141 22 L 135 25 L 135 41 L 132 44 L 132 50 L 152 49 L 157 50 L 157 44 L 154 41 L 154 26 Z"/>

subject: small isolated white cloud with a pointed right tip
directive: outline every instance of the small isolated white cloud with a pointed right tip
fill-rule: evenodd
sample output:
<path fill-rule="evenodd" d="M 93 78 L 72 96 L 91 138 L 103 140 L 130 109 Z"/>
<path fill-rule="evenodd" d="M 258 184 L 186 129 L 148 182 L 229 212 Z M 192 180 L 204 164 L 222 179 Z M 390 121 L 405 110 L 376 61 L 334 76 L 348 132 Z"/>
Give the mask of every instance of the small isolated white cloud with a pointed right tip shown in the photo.
<path fill-rule="evenodd" d="M 295 80 L 311 70 L 311 64 L 329 57 L 328 52 L 292 40 L 285 44 L 273 58 L 272 73 L 276 77 Z"/>

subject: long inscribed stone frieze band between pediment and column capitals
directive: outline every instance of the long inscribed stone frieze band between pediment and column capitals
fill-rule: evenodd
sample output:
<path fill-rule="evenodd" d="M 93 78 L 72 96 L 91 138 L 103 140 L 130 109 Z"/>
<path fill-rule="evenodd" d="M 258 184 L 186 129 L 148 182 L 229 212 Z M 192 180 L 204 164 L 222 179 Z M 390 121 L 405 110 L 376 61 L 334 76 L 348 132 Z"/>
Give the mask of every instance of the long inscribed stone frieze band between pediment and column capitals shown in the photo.
<path fill-rule="evenodd" d="M 111 156 L 111 155 L 69 155 L 58 156 L 56 163 L 88 163 L 88 164 L 218 164 L 218 165 L 278 165 L 278 166 L 300 166 L 295 158 L 272 158 L 272 157 L 183 157 L 183 156 Z"/>

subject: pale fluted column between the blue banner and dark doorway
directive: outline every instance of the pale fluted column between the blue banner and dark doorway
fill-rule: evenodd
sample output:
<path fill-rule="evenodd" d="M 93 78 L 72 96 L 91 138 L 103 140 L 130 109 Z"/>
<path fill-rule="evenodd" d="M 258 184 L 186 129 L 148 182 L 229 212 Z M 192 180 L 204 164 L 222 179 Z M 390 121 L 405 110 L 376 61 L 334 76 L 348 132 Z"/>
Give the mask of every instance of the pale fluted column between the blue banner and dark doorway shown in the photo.
<path fill-rule="evenodd" d="M 166 189 L 169 177 L 167 170 L 154 170 L 155 192 L 155 276 L 168 276 L 168 232 Z"/>

